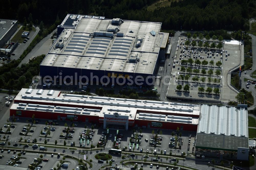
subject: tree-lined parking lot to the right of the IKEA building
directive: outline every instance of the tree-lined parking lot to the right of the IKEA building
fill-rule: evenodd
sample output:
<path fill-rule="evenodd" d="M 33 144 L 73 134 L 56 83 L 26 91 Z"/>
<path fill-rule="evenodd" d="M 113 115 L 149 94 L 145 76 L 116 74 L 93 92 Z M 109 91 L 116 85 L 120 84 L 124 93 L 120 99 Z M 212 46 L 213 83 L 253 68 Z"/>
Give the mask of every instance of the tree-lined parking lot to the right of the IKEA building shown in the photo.
<path fill-rule="evenodd" d="M 239 42 L 224 41 L 224 47 L 221 49 L 210 47 L 206 49 L 205 47 L 199 46 L 187 46 L 185 45 L 185 39 L 186 37 L 179 37 L 174 62 L 169 64 L 169 67 L 172 67 L 172 71 L 167 96 L 169 98 L 191 98 L 199 100 L 235 100 L 236 93 L 227 86 L 227 82 L 229 83 L 229 76 L 227 77 L 227 74 L 229 69 L 240 63 Z M 199 42 L 200 40 L 196 41 Z M 204 44 L 206 40 L 202 40 L 202 42 Z M 213 40 L 210 39 L 209 44 L 212 42 Z M 218 40 L 215 43 L 218 44 Z M 241 54 L 243 54 L 242 47 L 240 49 Z M 187 60 L 187 63 L 185 63 L 185 60 Z M 189 63 L 189 60 L 192 60 L 192 64 Z M 216 65 L 217 62 L 221 62 L 220 66 Z M 243 55 L 241 62 L 243 62 Z M 188 79 L 185 79 L 186 75 L 189 75 Z M 226 80 L 227 78 L 228 80 Z M 185 79 L 185 81 L 182 81 L 182 79 Z M 177 85 L 179 84 L 182 87 L 188 84 L 188 91 L 177 91 Z M 212 90 L 218 88 L 220 94 L 215 95 L 213 91 L 211 92 L 212 94 L 208 94 L 208 92 L 198 93 L 199 87 L 204 88 L 204 90 L 208 87 L 212 88 Z"/>

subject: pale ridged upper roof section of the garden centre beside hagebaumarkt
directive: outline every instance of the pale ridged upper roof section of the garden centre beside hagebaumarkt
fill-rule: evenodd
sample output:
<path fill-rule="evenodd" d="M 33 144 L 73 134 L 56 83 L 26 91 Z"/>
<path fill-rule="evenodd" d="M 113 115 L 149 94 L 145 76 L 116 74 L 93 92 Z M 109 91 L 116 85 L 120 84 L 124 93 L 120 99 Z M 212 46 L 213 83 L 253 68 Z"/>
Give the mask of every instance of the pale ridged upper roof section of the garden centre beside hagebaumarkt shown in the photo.
<path fill-rule="evenodd" d="M 246 108 L 201 105 L 197 132 L 248 137 Z"/>

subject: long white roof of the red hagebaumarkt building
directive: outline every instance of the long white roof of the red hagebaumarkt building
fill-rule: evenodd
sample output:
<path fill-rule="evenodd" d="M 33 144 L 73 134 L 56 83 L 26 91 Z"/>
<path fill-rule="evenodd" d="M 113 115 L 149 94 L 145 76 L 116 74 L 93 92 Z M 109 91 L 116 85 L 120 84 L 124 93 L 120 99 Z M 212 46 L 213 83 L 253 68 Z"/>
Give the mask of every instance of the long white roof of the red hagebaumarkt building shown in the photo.
<path fill-rule="evenodd" d="M 99 117 L 118 112 L 119 115 L 129 116 L 130 120 L 136 118 L 198 124 L 200 105 L 65 94 L 55 90 L 23 88 L 10 109 Z"/>

